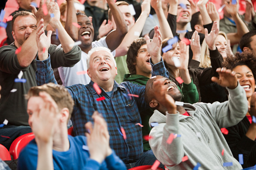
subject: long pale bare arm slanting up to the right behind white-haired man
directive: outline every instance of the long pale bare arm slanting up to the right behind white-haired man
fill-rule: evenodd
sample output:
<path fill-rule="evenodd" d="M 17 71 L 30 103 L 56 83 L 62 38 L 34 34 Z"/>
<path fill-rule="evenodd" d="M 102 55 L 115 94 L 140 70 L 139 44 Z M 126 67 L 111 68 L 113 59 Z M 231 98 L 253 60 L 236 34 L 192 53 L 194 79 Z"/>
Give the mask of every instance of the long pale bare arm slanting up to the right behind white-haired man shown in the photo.
<path fill-rule="evenodd" d="M 141 33 L 143 26 L 146 22 L 146 19 L 150 12 L 150 0 L 144 0 L 141 4 L 141 13 L 140 17 L 137 19 L 135 24 L 128 30 L 128 33 L 125 35 L 124 40 L 121 42 L 121 44 L 116 48 L 116 56 L 123 56 L 127 54 L 128 47 L 131 45 L 131 43 L 139 38 L 140 35 L 135 34 L 135 32 Z"/>

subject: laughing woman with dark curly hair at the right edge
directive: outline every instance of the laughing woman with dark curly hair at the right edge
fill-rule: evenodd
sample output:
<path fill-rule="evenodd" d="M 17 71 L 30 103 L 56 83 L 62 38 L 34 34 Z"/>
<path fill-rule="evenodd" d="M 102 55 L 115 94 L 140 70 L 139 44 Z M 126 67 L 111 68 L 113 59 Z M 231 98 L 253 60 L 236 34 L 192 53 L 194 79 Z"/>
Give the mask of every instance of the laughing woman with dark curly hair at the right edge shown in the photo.
<path fill-rule="evenodd" d="M 223 67 L 236 72 L 238 82 L 246 92 L 249 111 L 244 119 L 237 125 L 227 128 L 228 134 L 224 135 L 233 156 L 239 160 L 243 154 L 243 168 L 256 164 L 256 55 L 244 51 L 236 53 L 235 57 L 228 56 Z M 252 118 L 253 117 L 253 118 Z M 225 154 L 225 153 L 224 153 Z"/>

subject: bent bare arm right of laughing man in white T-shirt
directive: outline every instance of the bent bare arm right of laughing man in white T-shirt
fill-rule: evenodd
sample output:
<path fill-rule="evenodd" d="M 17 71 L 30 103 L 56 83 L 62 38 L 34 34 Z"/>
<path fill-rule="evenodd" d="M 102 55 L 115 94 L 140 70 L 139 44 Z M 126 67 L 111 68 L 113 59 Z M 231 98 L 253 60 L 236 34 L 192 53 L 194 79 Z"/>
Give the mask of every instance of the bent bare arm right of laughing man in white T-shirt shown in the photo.
<path fill-rule="evenodd" d="M 115 2 L 113 0 L 107 0 L 107 2 L 116 23 L 116 29 L 111 31 L 106 37 L 108 48 L 113 51 L 123 41 L 125 34 L 128 32 L 128 27 Z"/>

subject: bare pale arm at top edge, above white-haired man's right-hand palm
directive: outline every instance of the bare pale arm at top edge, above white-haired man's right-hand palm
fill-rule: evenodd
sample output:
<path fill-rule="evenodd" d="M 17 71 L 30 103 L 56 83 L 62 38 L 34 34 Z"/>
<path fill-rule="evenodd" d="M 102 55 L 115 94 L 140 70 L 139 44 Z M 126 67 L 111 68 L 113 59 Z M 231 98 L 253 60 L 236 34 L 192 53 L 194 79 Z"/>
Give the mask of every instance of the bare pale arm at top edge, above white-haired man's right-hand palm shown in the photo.
<path fill-rule="evenodd" d="M 150 4 L 156 11 L 156 15 L 159 21 L 159 28 L 162 33 L 163 39 L 169 37 L 173 38 L 172 30 L 164 15 L 164 10 L 162 8 L 162 0 L 151 0 Z"/>

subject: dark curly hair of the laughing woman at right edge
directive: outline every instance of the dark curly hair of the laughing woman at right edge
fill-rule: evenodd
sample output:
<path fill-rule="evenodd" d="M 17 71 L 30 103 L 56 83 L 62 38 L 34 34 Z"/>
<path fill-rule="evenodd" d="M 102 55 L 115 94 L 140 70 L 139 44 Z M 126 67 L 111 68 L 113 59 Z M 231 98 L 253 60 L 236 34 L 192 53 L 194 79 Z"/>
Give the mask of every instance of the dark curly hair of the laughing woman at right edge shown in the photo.
<path fill-rule="evenodd" d="M 244 51 L 242 53 L 236 52 L 235 56 L 227 56 L 222 63 L 223 67 L 233 70 L 236 66 L 246 65 L 252 70 L 254 79 L 256 78 L 256 55 L 251 51 Z"/>

